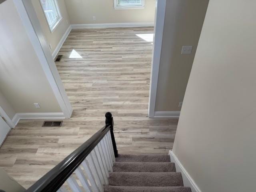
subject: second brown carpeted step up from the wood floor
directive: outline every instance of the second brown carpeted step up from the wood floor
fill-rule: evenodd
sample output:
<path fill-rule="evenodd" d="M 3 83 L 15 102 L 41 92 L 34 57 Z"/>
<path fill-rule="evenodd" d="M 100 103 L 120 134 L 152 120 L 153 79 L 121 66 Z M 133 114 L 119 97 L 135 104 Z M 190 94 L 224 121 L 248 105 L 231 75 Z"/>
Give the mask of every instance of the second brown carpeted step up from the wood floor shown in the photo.
<path fill-rule="evenodd" d="M 171 162 L 114 162 L 114 172 L 176 172 Z"/>

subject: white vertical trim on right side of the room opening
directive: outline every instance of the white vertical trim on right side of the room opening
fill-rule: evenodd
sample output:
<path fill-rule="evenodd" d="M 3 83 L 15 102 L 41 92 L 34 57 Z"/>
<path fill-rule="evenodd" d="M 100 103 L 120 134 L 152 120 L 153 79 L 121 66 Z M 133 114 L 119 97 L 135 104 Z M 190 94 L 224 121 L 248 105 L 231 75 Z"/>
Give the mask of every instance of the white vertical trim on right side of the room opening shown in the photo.
<path fill-rule="evenodd" d="M 151 65 L 151 77 L 150 77 L 150 90 L 149 90 L 149 102 L 148 102 L 148 116 L 150 118 L 155 116 L 156 106 L 156 90 L 158 83 L 158 73 L 162 49 L 162 39 L 164 32 L 164 18 L 165 18 L 166 0 L 156 1 L 156 14 L 155 14 L 155 27 L 154 27 L 154 45 L 153 45 L 153 57 Z"/>

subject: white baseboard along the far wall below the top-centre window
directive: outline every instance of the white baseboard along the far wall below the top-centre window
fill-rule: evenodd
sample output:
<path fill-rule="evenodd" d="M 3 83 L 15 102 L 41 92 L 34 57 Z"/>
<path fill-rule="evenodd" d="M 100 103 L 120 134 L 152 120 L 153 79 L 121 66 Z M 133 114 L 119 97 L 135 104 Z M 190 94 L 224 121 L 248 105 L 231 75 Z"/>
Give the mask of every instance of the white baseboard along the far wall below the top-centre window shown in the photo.
<path fill-rule="evenodd" d="M 113 28 L 113 27 L 150 27 L 154 22 L 148 23 L 97 23 L 97 24 L 71 24 L 72 29 L 83 28 Z"/>

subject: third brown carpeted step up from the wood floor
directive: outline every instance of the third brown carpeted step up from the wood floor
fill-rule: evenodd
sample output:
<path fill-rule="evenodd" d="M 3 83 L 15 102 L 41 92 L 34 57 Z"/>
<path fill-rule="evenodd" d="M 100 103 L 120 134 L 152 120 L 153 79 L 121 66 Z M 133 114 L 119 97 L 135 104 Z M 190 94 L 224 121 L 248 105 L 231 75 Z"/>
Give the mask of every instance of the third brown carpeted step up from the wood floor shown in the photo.
<path fill-rule="evenodd" d="M 112 172 L 111 186 L 183 186 L 180 172 Z"/>

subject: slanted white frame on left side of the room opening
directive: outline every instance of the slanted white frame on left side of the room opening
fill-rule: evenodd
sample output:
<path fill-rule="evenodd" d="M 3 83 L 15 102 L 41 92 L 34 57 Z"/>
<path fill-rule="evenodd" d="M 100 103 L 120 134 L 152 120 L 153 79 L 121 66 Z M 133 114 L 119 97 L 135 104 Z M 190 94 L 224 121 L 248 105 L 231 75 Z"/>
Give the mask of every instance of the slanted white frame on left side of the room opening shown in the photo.
<path fill-rule="evenodd" d="M 54 95 L 64 114 L 64 118 L 70 118 L 73 112 L 70 101 L 66 94 L 65 88 L 60 79 L 54 58 L 50 52 L 40 22 L 36 16 L 31 0 L 13 0 L 22 23 L 27 30 L 28 37 L 36 55 L 39 58 L 40 64 L 44 70 L 46 78 L 54 92 Z"/>

